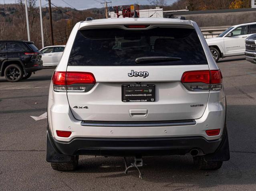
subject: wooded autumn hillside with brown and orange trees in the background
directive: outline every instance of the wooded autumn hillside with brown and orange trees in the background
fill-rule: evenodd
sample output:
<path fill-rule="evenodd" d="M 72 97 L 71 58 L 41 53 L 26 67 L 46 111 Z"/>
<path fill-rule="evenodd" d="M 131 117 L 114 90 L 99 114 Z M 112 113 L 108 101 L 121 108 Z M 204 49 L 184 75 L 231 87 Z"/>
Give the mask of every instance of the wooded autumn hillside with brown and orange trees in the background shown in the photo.
<path fill-rule="evenodd" d="M 50 45 L 48 5 L 42 7 L 44 44 Z M 250 0 L 177 0 L 168 5 L 166 0 L 149 0 L 149 5 L 141 5 L 140 9 L 150 9 L 160 6 L 163 10 L 214 10 L 250 8 Z M 111 8 L 109 8 L 111 11 Z M 28 0 L 28 17 L 30 38 L 38 48 L 42 47 L 40 33 L 40 14 L 36 0 Z M 54 44 L 66 44 L 73 26 L 87 17 L 105 18 L 104 8 L 76 10 L 52 4 L 52 25 Z M 0 39 L 27 39 L 25 6 L 22 0 L 17 4 L 0 4 Z"/>

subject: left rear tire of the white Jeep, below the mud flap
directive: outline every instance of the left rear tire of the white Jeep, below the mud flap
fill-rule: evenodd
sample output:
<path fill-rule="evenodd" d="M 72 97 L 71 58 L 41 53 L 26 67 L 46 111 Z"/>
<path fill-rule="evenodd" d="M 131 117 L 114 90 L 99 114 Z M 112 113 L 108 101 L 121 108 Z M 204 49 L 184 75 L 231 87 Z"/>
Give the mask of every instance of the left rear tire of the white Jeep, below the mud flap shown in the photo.
<path fill-rule="evenodd" d="M 79 156 L 72 156 L 70 162 L 51 162 L 52 169 L 57 171 L 73 171 L 77 168 Z"/>

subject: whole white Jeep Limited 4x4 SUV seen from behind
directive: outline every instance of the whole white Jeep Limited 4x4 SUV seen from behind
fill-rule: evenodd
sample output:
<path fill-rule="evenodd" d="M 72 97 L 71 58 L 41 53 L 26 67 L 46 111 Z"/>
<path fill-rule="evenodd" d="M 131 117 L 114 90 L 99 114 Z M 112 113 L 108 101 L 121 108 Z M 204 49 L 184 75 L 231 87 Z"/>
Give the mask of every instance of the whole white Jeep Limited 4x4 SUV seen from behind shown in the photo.
<path fill-rule="evenodd" d="M 50 84 L 46 160 L 74 170 L 79 155 L 229 159 L 222 75 L 189 20 L 79 22 Z"/>

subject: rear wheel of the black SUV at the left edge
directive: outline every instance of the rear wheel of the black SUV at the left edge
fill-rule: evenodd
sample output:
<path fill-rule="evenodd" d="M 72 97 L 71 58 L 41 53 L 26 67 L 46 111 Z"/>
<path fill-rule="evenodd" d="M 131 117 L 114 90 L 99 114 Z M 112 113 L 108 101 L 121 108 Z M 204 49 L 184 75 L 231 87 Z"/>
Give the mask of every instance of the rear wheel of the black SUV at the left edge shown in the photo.
<path fill-rule="evenodd" d="M 9 82 L 20 81 L 23 74 L 22 68 L 17 64 L 8 65 L 4 70 L 4 77 Z"/>

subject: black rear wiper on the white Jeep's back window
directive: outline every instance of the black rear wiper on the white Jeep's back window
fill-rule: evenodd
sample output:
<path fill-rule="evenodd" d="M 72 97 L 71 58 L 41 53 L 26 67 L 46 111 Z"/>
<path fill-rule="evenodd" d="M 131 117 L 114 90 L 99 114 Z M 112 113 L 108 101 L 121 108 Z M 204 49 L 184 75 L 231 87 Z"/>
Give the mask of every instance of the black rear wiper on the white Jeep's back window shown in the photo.
<path fill-rule="evenodd" d="M 167 62 L 167 61 L 179 61 L 181 58 L 178 57 L 167 57 L 167 56 L 150 56 L 150 57 L 139 57 L 135 59 L 137 64 L 143 63 L 156 63 L 156 62 Z"/>

